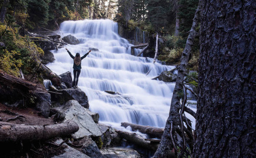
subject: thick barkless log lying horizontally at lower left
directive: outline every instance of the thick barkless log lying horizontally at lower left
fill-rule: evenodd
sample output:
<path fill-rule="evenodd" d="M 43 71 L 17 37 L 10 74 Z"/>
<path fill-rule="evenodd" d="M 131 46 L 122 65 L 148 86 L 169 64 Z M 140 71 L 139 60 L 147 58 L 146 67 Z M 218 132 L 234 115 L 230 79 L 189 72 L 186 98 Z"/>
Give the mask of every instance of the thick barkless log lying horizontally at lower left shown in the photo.
<path fill-rule="evenodd" d="M 78 131 L 74 121 L 52 125 L 22 125 L 0 122 L 0 142 L 48 140 L 57 136 L 70 135 Z"/>

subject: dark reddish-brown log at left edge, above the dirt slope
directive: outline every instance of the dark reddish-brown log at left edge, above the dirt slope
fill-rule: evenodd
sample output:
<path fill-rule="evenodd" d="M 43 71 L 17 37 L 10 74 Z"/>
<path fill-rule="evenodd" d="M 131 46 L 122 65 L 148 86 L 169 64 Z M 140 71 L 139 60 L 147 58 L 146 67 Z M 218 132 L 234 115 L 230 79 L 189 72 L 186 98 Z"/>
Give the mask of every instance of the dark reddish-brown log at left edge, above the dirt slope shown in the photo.
<path fill-rule="evenodd" d="M 9 75 L 2 70 L 0 70 L 0 81 L 3 83 L 8 83 L 14 87 L 26 90 L 35 90 L 37 85 L 35 83 L 29 82 L 22 78 L 17 78 L 15 76 Z"/>

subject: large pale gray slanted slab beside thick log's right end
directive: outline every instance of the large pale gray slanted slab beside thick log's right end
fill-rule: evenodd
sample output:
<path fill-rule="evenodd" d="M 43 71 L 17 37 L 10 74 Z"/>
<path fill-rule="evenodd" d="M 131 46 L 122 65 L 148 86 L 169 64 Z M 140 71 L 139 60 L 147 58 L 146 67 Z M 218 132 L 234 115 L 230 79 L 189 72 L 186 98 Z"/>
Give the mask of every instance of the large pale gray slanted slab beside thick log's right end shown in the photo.
<path fill-rule="evenodd" d="M 79 130 L 74 133 L 73 138 L 83 138 L 85 136 L 100 136 L 102 132 L 78 101 L 71 100 L 64 105 L 65 119 L 73 120 L 79 125 Z"/>

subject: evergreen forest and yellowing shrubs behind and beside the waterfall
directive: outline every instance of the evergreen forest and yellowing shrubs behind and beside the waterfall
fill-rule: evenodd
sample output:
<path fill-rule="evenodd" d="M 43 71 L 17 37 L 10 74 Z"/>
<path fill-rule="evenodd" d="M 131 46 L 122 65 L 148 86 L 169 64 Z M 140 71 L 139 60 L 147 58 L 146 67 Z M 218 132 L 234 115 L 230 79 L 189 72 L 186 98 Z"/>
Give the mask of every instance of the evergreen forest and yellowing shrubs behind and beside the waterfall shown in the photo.
<path fill-rule="evenodd" d="M 44 54 L 33 43 L 26 46 L 29 38 L 24 32 L 57 30 L 65 20 L 111 19 L 127 30 L 158 32 L 165 40 L 158 59 L 178 64 L 198 0 L 0 0 L 0 5 L 0 40 L 5 44 L 0 48 L 0 69 L 17 76 L 19 69 L 33 74 L 35 59 Z M 198 43 L 197 38 L 189 61 L 192 70 L 198 70 Z"/>

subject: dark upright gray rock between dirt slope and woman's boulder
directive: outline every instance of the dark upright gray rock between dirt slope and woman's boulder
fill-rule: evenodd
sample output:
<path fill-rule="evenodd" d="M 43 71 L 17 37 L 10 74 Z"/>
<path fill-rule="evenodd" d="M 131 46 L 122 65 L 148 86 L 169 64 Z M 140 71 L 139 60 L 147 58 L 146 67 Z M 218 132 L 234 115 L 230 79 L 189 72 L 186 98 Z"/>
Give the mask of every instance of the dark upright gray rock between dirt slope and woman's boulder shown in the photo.
<path fill-rule="evenodd" d="M 51 95 L 47 92 L 35 92 L 36 109 L 42 112 L 45 118 L 49 117 L 50 106 L 51 106 Z"/>

